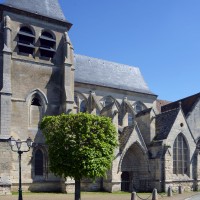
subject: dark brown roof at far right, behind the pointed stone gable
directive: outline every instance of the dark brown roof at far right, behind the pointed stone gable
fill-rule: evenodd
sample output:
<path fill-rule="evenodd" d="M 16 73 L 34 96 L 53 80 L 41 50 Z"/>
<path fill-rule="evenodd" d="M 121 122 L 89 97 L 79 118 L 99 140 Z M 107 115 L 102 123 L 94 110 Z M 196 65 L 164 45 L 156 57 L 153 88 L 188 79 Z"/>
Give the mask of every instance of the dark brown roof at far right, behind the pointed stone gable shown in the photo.
<path fill-rule="evenodd" d="M 200 93 L 194 94 L 192 96 L 162 106 L 161 111 L 165 112 L 168 110 L 178 108 L 181 102 L 181 108 L 183 110 L 184 115 L 187 117 L 188 113 L 192 110 L 193 106 L 199 100 L 199 98 L 200 98 Z"/>

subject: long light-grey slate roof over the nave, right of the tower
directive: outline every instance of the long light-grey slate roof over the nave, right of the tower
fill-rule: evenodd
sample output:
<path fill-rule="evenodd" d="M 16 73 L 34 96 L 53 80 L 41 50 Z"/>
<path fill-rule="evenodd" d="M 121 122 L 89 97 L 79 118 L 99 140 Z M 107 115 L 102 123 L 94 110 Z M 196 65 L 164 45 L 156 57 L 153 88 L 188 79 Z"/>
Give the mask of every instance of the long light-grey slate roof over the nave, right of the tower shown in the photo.
<path fill-rule="evenodd" d="M 139 68 L 83 55 L 75 55 L 75 82 L 153 94 Z"/>

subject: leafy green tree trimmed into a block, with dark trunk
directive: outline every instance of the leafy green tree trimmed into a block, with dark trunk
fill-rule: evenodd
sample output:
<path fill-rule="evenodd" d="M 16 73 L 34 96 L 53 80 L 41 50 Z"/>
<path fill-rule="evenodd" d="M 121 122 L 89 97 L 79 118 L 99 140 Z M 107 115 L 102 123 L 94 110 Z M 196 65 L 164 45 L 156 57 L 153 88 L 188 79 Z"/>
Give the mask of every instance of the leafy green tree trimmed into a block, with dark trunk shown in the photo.
<path fill-rule="evenodd" d="M 106 175 L 118 145 L 110 118 L 88 113 L 45 116 L 41 130 L 48 145 L 50 170 L 75 180 L 75 200 L 81 199 L 80 182 Z"/>

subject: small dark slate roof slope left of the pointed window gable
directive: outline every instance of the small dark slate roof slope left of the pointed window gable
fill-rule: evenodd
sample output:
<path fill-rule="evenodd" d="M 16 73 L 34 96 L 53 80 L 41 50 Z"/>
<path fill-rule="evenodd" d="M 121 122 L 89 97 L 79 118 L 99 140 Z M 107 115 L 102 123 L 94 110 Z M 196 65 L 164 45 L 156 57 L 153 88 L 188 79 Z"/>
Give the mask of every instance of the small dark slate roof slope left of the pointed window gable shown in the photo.
<path fill-rule="evenodd" d="M 167 139 L 179 111 L 180 109 L 177 108 L 156 115 L 156 136 L 154 140 Z"/>

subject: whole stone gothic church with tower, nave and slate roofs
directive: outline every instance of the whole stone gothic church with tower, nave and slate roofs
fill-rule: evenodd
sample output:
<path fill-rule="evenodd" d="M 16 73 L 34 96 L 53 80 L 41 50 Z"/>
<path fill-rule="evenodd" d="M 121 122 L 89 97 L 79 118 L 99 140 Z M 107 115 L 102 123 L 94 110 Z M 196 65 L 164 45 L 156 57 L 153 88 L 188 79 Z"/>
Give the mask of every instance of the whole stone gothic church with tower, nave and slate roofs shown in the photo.
<path fill-rule="evenodd" d="M 34 142 L 22 154 L 23 191 L 74 191 L 50 172 L 39 123 L 78 112 L 110 117 L 119 138 L 107 177 L 82 180 L 82 190 L 200 189 L 200 93 L 161 101 L 139 68 L 74 54 L 58 0 L 5 0 L 0 22 L 0 194 L 18 190 L 11 136 Z"/>

